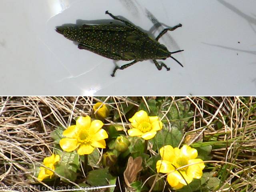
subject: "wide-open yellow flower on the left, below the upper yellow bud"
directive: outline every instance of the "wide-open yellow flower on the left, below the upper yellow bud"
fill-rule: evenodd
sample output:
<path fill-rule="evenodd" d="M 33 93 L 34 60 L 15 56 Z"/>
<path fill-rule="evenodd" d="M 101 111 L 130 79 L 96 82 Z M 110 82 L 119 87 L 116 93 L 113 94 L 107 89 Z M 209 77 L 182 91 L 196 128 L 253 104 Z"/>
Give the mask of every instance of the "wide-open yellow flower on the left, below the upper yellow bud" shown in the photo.
<path fill-rule="evenodd" d="M 104 139 L 108 138 L 107 132 L 102 129 L 104 124 L 100 120 L 93 120 L 89 116 L 78 117 L 76 125 L 68 127 L 60 140 L 60 147 L 67 152 L 78 148 L 79 155 L 90 154 L 95 147 L 106 148 Z"/>

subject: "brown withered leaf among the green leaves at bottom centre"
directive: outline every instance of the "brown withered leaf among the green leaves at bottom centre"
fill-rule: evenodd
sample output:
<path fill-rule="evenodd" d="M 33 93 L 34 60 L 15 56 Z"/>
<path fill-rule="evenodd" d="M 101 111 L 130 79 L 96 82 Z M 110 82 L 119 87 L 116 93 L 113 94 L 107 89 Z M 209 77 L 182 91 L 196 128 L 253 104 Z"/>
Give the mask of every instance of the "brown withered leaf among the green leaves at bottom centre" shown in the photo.
<path fill-rule="evenodd" d="M 136 157 L 133 159 L 129 157 L 127 167 L 124 171 L 124 181 L 128 187 L 131 187 L 131 183 L 137 178 L 137 174 L 142 170 L 142 157 Z"/>

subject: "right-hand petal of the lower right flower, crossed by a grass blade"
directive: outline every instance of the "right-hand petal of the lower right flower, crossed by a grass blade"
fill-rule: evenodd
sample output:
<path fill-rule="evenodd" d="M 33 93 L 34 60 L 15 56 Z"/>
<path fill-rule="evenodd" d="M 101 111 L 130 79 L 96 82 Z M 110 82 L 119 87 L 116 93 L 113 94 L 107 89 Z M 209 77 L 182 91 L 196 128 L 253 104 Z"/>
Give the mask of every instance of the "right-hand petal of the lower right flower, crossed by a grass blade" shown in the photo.
<path fill-rule="evenodd" d="M 194 164 L 198 163 L 198 164 Z M 188 169 L 186 170 L 186 173 L 188 176 L 196 179 L 200 179 L 203 175 L 203 169 L 205 167 L 203 161 L 201 159 L 191 159 L 188 161 L 188 164 L 194 164 L 188 166 Z"/>

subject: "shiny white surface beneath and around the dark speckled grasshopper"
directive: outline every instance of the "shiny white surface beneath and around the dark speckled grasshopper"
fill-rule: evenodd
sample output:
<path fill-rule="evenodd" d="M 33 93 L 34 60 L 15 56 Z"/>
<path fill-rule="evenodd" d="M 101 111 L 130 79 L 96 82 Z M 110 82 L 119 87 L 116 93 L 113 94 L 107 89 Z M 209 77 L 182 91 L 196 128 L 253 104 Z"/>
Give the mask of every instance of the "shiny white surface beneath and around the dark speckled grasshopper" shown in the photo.
<path fill-rule="evenodd" d="M 110 74 L 115 62 L 55 31 L 109 23 L 108 10 L 184 49 L 158 71 L 150 60 Z M 1 95 L 255 95 L 255 0 L 0 0 Z M 240 43 L 238 43 L 240 42 Z M 158 60 L 160 61 L 160 60 Z M 119 66 L 127 61 L 118 61 Z"/>

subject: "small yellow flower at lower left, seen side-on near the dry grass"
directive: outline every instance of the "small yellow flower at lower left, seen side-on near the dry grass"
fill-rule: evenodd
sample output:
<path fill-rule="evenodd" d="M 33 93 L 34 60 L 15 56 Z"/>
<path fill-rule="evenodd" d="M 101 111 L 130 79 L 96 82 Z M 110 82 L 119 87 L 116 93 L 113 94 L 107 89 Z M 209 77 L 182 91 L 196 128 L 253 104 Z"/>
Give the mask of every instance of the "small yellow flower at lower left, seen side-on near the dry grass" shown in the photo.
<path fill-rule="evenodd" d="M 44 166 L 50 168 L 51 170 L 55 170 L 54 164 L 56 164 L 59 160 L 60 160 L 59 155 L 52 154 L 52 156 L 44 158 L 43 164 L 44 164 Z M 49 170 L 45 167 L 40 167 L 40 171 L 38 174 L 38 180 L 42 181 L 49 177 L 51 179 L 54 174 L 51 170 Z"/>

